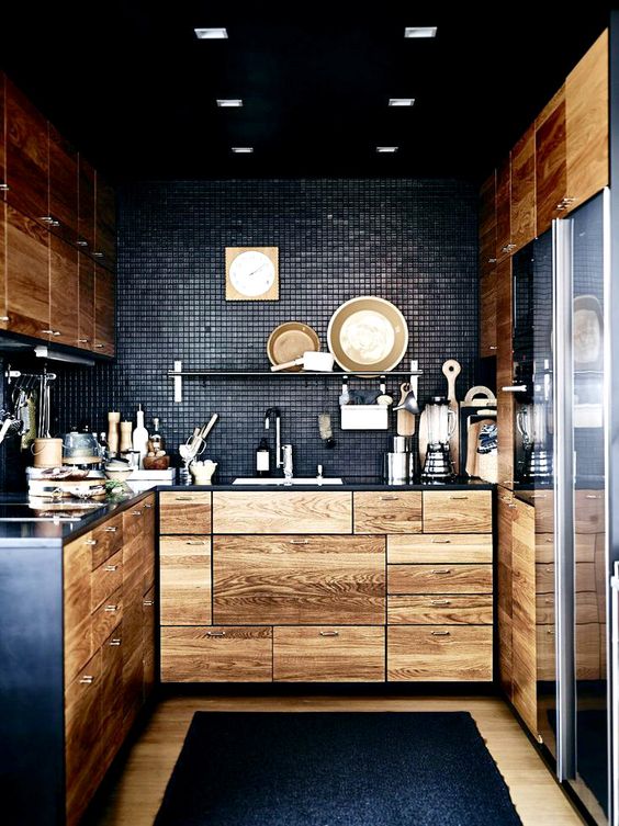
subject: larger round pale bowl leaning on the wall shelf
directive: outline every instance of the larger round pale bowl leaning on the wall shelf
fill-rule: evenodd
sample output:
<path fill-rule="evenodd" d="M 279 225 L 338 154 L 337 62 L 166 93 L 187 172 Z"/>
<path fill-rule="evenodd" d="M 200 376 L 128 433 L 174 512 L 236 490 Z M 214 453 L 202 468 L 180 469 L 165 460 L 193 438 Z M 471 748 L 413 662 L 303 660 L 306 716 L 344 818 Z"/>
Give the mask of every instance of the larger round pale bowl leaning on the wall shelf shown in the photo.
<path fill-rule="evenodd" d="M 385 298 L 362 295 L 341 304 L 327 330 L 330 352 L 342 370 L 386 373 L 402 361 L 408 327 L 399 309 Z"/>

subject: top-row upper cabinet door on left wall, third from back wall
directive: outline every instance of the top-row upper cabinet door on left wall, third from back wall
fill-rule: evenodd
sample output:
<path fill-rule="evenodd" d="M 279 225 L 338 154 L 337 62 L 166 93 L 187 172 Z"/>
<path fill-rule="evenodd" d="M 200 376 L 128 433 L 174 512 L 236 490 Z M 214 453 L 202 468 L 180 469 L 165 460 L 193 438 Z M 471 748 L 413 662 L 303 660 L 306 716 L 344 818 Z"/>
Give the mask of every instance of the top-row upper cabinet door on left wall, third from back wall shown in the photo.
<path fill-rule="evenodd" d="M 50 230 L 76 244 L 78 239 L 78 156 L 72 146 L 49 124 Z"/>

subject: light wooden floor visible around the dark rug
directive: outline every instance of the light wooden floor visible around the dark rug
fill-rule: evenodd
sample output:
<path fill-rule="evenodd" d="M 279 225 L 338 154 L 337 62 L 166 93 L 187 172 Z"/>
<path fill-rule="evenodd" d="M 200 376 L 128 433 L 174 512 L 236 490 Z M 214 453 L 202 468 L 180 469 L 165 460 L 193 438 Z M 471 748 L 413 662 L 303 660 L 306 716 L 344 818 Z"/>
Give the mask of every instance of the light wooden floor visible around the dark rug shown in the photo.
<path fill-rule="evenodd" d="M 497 698 L 175 697 L 155 710 L 92 826 L 151 826 L 195 711 L 469 711 L 495 759 L 524 826 L 578 826 L 508 706 Z"/>

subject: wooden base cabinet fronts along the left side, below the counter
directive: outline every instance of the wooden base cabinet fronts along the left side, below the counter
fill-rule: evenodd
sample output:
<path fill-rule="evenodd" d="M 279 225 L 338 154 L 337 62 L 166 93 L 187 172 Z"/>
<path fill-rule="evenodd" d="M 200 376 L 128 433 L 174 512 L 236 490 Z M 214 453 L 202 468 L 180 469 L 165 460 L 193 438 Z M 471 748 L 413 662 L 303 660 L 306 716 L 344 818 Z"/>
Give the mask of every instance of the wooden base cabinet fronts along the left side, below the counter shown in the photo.
<path fill-rule="evenodd" d="M 145 591 L 151 577 L 144 574 L 155 555 L 153 506 L 149 496 L 64 547 L 69 826 L 81 818 L 154 684 L 155 595 Z"/>

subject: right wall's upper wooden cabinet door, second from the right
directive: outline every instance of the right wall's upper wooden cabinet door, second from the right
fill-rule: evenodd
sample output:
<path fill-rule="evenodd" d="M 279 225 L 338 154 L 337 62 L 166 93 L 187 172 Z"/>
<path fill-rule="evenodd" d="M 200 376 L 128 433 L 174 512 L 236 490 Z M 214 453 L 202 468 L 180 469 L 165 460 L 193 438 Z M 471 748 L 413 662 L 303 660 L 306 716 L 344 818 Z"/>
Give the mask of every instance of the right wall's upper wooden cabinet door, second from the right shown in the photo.
<path fill-rule="evenodd" d="M 537 234 L 541 235 L 569 203 L 564 86 L 536 121 L 536 185 Z"/>

